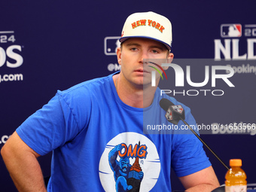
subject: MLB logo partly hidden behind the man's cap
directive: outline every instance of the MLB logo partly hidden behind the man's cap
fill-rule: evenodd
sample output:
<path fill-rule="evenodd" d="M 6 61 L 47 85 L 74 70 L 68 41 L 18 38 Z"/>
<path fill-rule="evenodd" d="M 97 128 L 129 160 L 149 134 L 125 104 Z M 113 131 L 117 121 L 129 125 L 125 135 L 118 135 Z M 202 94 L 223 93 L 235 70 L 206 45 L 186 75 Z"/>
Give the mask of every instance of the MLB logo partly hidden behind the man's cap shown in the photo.
<path fill-rule="evenodd" d="M 120 37 L 105 37 L 104 39 L 104 53 L 105 55 L 116 55 L 117 47 L 120 47 Z"/>

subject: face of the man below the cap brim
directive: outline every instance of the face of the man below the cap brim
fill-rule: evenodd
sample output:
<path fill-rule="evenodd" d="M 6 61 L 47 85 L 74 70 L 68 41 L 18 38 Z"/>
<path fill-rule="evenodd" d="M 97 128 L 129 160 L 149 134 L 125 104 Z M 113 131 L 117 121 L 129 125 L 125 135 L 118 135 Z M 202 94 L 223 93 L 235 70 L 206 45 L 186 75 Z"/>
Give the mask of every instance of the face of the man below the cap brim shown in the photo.
<path fill-rule="evenodd" d="M 173 54 L 169 53 L 164 44 L 147 38 L 129 38 L 123 42 L 122 48 L 117 49 L 121 73 L 126 83 L 135 87 L 151 84 L 151 71 L 154 69 L 148 67 L 149 63 L 143 62 L 143 59 L 172 57 Z"/>

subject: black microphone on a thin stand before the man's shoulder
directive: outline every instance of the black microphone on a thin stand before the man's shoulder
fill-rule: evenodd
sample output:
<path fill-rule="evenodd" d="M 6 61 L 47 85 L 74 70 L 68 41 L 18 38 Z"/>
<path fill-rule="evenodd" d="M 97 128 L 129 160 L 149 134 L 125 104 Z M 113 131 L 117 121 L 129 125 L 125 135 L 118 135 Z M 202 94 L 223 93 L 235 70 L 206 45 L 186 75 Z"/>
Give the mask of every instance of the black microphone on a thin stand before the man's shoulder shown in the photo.
<path fill-rule="evenodd" d="M 187 127 L 190 129 L 190 131 L 192 133 L 194 133 L 195 136 L 197 136 L 197 138 L 200 140 L 200 142 L 203 143 L 203 145 L 206 146 L 206 148 L 209 149 L 209 151 L 212 152 L 212 154 L 214 154 L 214 156 L 222 163 L 222 165 L 224 165 L 224 167 L 229 170 L 229 168 L 225 165 L 225 163 L 223 163 L 223 161 L 217 156 L 217 154 L 215 154 L 215 152 L 212 151 L 211 148 L 209 148 L 209 146 L 206 144 L 206 142 L 203 141 L 203 139 L 200 138 L 200 136 L 198 136 L 198 134 L 190 127 L 190 125 L 184 120 L 185 119 L 185 114 L 184 114 L 184 108 L 182 108 L 181 105 L 174 105 L 171 101 L 169 101 L 169 99 L 161 99 L 160 102 L 160 107 L 163 108 L 164 111 L 166 111 L 166 119 L 170 122 L 173 123 L 175 125 L 178 124 L 179 120 L 182 120 L 183 123 L 185 125 L 187 125 Z"/>

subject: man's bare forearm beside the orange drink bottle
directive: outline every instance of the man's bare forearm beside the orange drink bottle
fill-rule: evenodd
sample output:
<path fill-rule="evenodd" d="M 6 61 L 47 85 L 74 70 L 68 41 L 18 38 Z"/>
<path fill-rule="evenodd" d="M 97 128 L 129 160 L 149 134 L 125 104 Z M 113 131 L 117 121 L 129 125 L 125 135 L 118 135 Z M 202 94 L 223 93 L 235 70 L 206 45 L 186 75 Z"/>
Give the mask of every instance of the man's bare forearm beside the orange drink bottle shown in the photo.
<path fill-rule="evenodd" d="M 210 192 L 220 186 L 212 166 L 179 179 L 187 192 Z"/>

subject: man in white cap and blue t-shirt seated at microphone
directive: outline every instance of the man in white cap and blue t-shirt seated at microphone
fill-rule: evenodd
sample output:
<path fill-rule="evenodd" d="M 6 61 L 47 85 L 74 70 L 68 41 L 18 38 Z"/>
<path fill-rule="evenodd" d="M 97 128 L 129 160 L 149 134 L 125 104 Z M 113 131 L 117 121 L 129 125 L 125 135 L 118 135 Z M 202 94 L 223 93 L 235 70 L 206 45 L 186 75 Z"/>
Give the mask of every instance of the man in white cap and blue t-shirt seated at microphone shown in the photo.
<path fill-rule="evenodd" d="M 194 135 L 143 133 L 147 123 L 169 123 L 160 99 L 181 105 L 151 86 L 148 64 L 157 63 L 143 62 L 173 58 L 169 20 L 153 12 L 132 14 L 120 42 L 120 72 L 58 91 L 5 143 L 2 157 L 18 190 L 46 191 L 37 157 L 50 151 L 47 191 L 171 191 L 171 166 L 186 191 L 219 186 Z M 196 124 L 183 107 L 187 122 Z"/>

